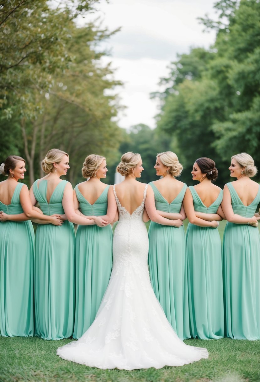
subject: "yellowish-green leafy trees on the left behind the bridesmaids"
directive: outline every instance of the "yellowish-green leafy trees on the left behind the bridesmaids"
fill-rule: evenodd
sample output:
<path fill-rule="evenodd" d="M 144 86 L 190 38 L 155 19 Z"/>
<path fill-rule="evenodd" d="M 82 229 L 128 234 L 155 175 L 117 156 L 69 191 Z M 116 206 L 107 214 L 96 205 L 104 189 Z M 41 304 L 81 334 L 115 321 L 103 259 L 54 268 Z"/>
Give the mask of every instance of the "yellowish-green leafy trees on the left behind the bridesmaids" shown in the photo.
<path fill-rule="evenodd" d="M 108 162 L 117 154 L 121 129 L 112 120 L 119 106 L 109 90 L 120 82 L 103 62 L 106 52 L 97 49 L 116 31 L 74 23 L 98 2 L 67 1 L 54 8 L 45 0 L 13 0 L 0 8 L 0 131 L 7 137 L 15 131 L 0 154 L 24 156 L 30 183 L 42 175 L 40 161 L 50 148 L 70 154 L 73 183 L 88 154 L 105 155 Z"/>

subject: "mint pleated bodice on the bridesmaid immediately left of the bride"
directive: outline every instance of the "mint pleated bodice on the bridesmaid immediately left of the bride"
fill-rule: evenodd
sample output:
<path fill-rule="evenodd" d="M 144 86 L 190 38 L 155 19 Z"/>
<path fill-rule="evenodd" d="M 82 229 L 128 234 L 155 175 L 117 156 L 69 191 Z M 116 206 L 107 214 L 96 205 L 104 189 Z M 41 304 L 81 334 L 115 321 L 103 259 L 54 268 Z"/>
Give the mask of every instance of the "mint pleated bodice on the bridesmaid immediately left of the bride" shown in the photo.
<path fill-rule="evenodd" d="M 90 202 L 85 199 L 82 193 L 79 191 L 78 185 L 75 187 L 77 199 L 79 201 L 80 210 L 85 216 L 102 216 L 106 215 L 108 209 L 108 189 L 109 185 L 106 186 L 100 197 L 95 201 L 95 203 L 90 204 Z"/>

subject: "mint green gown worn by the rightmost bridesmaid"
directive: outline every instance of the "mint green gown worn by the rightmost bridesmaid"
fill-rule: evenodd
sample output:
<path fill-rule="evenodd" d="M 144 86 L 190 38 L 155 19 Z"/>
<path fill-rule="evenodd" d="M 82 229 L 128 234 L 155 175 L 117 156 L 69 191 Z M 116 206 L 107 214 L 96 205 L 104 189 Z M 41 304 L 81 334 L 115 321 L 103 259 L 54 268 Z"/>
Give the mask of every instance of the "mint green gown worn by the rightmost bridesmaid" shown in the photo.
<path fill-rule="evenodd" d="M 260 202 L 260 188 L 244 206 L 232 183 L 227 183 L 234 214 L 252 217 Z M 247 224 L 226 223 L 223 237 L 223 282 L 226 336 L 260 339 L 260 235 Z"/>

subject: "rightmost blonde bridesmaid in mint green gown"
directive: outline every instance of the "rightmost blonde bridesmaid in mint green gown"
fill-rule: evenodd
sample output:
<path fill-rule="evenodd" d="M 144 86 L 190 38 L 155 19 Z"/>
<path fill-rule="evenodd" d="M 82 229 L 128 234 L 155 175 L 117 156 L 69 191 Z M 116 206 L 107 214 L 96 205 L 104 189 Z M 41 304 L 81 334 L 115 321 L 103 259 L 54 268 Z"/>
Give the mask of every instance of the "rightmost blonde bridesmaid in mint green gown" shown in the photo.
<path fill-rule="evenodd" d="M 230 176 L 224 187 L 223 211 L 228 223 L 223 238 L 223 282 L 227 337 L 260 339 L 260 236 L 254 213 L 260 187 L 250 178 L 257 168 L 242 152 L 231 158 Z"/>

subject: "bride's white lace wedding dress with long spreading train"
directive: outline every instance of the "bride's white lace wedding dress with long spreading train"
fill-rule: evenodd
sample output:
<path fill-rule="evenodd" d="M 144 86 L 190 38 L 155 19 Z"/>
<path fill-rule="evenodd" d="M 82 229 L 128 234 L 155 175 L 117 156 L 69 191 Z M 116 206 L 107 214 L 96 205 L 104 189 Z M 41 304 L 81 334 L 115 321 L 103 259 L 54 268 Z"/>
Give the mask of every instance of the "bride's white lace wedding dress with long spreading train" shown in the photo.
<path fill-rule="evenodd" d="M 100 369 L 181 366 L 208 358 L 204 348 L 185 345 L 176 335 L 152 290 L 144 198 L 132 213 L 121 206 L 113 240 L 113 268 L 95 321 L 77 341 L 58 348 L 69 361 Z"/>

